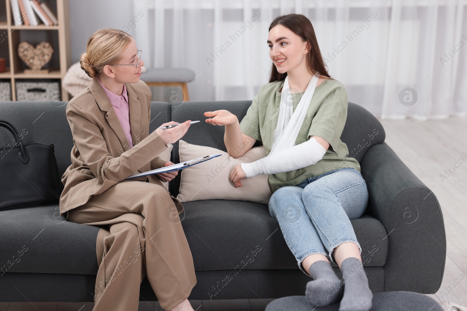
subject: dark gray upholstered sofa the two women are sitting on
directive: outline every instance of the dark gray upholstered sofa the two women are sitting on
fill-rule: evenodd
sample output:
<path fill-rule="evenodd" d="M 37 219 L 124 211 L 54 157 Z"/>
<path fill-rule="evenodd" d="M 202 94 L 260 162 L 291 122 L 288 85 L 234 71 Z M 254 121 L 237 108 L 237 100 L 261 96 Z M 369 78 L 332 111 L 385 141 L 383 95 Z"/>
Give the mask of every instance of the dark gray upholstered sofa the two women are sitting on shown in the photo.
<path fill-rule="evenodd" d="M 25 144 L 54 144 L 60 178 L 70 164 L 73 145 L 66 104 L 0 103 L 0 119 L 13 123 L 19 132 L 27 131 Z M 205 124 L 203 113 L 227 109 L 241 120 L 250 104 L 152 102 L 150 131 L 170 120 L 201 120 L 183 139 L 226 151 L 224 128 Z M 369 286 L 373 293 L 435 293 L 441 285 L 446 258 L 439 202 L 384 138 L 382 124 L 372 114 L 357 104 L 348 104 L 341 139 L 360 162 L 368 185 L 367 210 L 351 222 L 361 243 Z M 7 146 L 11 140 L 10 132 L 0 128 L 0 146 Z M 179 161 L 178 144 L 171 160 Z M 178 186 L 179 180 L 170 182 L 174 196 Z M 189 299 L 304 295 L 311 278 L 298 269 L 266 205 L 198 200 L 184 203 L 184 208 L 182 225 L 198 279 Z M 92 302 L 98 271 L 98 230 L 97 226 L 65 221 L 59 215 L 58 202 L 0 210 L 0 301 Z M 247 262 L 246 256 L 255 249 L 260 251 Z M 21 250 L 22 255 L 16 255 Z M 333 267 L 341 277 L 339 268 Z M 157 300 L 147 278 L 141 284 L 140 300 Z"/>

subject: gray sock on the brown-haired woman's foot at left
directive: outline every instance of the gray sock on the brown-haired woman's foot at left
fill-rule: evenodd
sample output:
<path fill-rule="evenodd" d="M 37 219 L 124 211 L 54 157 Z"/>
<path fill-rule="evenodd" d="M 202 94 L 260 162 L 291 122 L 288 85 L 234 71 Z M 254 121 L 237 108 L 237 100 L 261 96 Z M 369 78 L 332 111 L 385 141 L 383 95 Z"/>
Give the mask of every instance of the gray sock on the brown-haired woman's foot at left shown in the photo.
<path fill-rule="evenodd" d="M 340 301 L 344 294 L 344 283 L 336 276 L 330 263 L 324 260 L 314 262 L 310 267 L 310 275 L 314 280 L 306 284 L 305 295 L 313 307 Z"/>

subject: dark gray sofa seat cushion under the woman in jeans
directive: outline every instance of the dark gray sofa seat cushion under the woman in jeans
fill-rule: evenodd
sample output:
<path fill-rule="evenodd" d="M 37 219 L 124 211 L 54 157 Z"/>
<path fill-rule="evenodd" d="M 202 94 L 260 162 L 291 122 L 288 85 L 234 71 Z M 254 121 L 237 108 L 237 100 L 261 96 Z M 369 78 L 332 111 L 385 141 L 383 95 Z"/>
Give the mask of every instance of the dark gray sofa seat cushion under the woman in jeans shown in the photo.
<path fill-rule="evenodd" d="M 298 269 L 279 223 L 271 217 L 266 205 L 234 200 L 198 200 L 185 202 L 183 206 L 180 219 L 196 271 L 234 269 L 248 260 L 251 263 L 242 269 Z M 351 223 L 361 244 L 364 266 L 383 266 L 388 239 L 382 223 L 369 215 L 351 220 Z M 257 247 L 261 248 L 261 256 L 252 260 L 251 251 Z"/>

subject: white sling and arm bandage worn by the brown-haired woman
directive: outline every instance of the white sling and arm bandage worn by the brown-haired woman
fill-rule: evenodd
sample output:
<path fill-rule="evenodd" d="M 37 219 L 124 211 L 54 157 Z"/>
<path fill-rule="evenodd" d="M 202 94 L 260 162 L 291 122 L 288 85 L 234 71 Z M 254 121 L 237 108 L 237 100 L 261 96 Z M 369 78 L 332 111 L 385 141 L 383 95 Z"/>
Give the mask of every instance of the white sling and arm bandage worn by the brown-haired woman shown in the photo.
<path fill-rule="evenodd" d="M 315 164 L 323 158 L 326 151 L 315 138 L 310 138 L 302 144 L 295 145 L 295 140 L 302 127 L 317 83 L 318 76 L 315 74 L 308 83 L 297 108 L 293 111 L 289 77 L 285 77 L 271 152 L 265 158 L 252 163 L 241 164 L 247 178 L 259 174 L 290 172 Z"/>

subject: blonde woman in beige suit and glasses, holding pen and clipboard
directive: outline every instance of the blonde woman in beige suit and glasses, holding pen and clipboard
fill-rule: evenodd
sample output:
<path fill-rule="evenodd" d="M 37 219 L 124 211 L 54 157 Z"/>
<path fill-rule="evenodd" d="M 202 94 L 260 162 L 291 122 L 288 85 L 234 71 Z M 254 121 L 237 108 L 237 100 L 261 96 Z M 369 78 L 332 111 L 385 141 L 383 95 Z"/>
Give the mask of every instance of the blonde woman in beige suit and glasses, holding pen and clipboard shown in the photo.
<path fill-rule="evenodd" d="M 196 276 L 178 216 L 183 206 L 162 183 L 177 172 L 126 180 L 173 164 L 158 155 L 190 127 L 188 120 L 149 132 L 151 91 L 140 81 L 141 53 L 122 30 L 94 32 L 80 62 L 92 81 L 66 107 L 73 148 L 60 214 L 106 225 L 96 242 L 94 311 L 138 310 L 144 276 L 164 310 L 193 310 L 187 297 Z M 170 124 L 176 122 L 162 125 Z"/>

